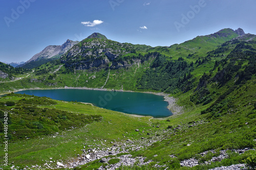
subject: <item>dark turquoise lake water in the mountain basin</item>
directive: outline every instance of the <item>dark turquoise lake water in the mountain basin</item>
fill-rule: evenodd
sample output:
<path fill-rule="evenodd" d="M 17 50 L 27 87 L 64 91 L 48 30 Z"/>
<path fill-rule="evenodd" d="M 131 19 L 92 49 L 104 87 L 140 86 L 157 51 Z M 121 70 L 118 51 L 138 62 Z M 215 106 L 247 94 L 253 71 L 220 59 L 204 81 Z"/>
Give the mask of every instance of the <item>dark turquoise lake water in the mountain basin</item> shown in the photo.
<path fill-rule="evenodd" d="M 47 96 L 55 100 L 92 103 L 101 108 L 137 115 L 167 117 L 172 112 L 163 96 L 140 92 L 101 91 L 84 89 L 24 90 L 20 94 Z"/>

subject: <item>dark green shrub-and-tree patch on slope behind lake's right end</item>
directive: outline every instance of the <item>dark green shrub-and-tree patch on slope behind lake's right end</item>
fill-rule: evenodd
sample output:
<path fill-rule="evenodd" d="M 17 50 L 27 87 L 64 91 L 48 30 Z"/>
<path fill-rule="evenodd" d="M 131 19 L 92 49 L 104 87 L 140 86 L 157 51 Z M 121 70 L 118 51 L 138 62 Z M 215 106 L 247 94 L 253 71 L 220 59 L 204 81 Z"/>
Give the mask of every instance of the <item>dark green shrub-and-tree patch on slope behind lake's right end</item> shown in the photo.
<path fill-rule="evenodd" d="M 177 90 L 188 90 L 191 88 L 191 82 L 188 82 L 192 77 L 191 70 L 193 70 L 193 64 L 188 64 L 183 58 L 177 61 L 166 61 L 165 56 L 158 55 L 151 68 L 148 68 L 137 80 L 137 88 L 172 93 Z"/>

